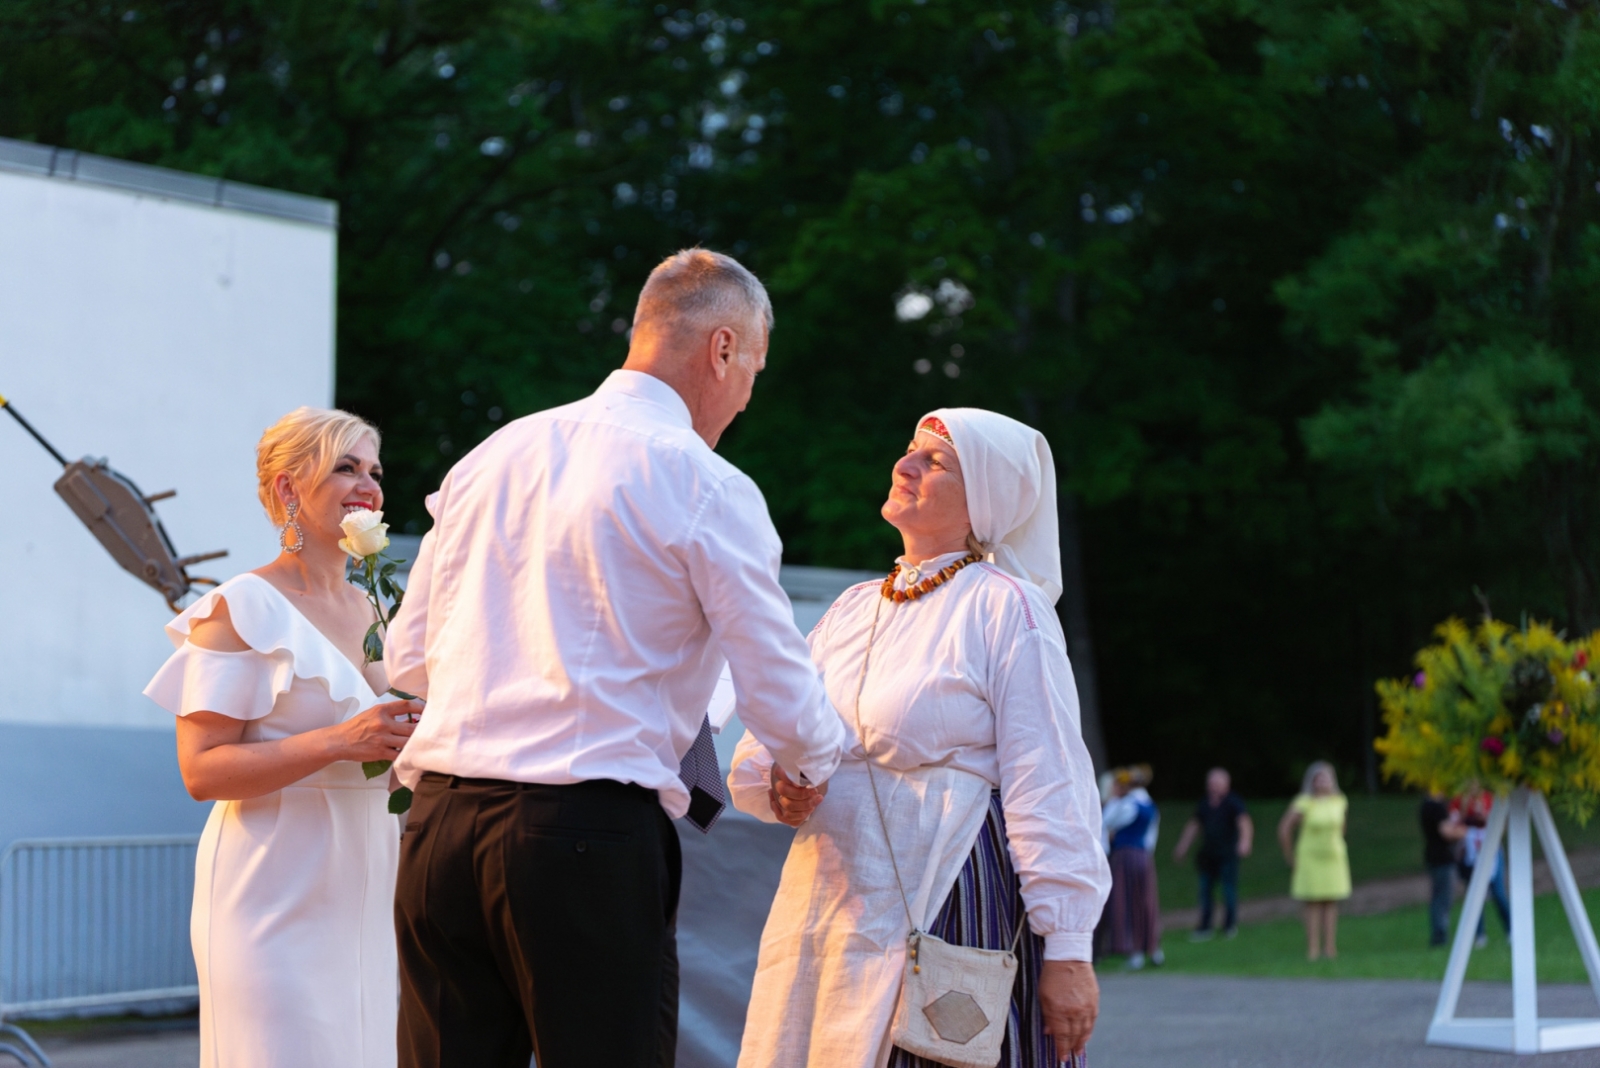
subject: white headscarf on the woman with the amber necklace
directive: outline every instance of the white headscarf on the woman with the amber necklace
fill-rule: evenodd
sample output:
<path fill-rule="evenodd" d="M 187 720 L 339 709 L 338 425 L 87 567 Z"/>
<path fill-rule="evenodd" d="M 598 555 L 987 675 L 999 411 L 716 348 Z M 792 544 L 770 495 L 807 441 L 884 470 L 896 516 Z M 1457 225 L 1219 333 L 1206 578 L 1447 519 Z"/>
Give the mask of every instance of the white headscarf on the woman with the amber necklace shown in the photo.
<path fill-rule="evenodd" d="M 947 435 L 925 428 L 938 419 Z M 918 433 L 946 438 L 962 462 L 973 536 L 997 568 L 1027 579 L 1054 604 L 1061 596 L 1056 462 L 1045 435 L 982 408 L 939 408 Z"/>

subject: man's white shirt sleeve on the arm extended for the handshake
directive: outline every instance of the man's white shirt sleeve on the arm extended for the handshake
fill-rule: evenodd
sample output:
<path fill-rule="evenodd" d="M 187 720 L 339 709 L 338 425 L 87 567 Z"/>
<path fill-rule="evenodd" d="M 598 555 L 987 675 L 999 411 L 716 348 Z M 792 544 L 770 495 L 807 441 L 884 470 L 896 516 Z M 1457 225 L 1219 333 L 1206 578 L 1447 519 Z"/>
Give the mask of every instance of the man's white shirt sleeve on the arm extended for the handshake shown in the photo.
<path fill-rule="evenodd" d="M 845 729 L 778 585 L 782 542 L 755 483 L 725 480 L 701 510 L 688 547 L 690 580 L 722 648 L 739 721 L 795 782 L 822 783 Z"/>

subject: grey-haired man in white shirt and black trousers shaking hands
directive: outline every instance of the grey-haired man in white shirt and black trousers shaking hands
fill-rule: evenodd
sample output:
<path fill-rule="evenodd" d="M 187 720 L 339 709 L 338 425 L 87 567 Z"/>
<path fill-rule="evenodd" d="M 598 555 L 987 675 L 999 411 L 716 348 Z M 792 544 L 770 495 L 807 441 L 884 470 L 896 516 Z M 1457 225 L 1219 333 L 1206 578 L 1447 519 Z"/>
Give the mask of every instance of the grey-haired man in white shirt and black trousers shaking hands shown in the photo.
<path fill-rule="evenodd" d="M 682 862 L 667 817 L 726 659 L 739 718 L 811 796 L 845 742 L 760 491 L 712 446 L 771 304 L 690 249 L 650 275 L 627 361 L 518 419 L 429 499 L 394 684 L 427 699 L 395 771 L 403 1068 L 670 1068 Z M 702 767 L 704 771 L 704 767 Z M 710 769 L 715 774 L 715 767 Z M 683 774 L 688 774 L 686 771 Z"/>

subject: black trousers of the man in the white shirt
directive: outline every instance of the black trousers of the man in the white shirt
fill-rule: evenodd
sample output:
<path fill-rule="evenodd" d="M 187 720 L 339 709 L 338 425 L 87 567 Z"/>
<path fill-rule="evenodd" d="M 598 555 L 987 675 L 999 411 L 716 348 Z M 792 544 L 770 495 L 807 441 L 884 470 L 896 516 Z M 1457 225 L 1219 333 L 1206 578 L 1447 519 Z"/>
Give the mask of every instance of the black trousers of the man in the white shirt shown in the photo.
<path fill-rule="evenodd" d="M 672 1068 L 682 875 L 653 790 L 424 775 L 395 891 L 400 1068 Z"/>

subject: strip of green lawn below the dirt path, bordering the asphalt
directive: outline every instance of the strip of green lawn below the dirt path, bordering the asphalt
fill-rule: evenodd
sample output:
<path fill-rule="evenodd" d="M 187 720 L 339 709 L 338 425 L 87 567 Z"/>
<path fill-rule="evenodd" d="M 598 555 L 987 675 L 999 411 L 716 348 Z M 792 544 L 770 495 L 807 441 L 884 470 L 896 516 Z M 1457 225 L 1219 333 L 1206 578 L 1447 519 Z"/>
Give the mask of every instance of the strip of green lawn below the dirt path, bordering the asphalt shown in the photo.
<path fill-rule="evenodd" d="M 1590 921 L 1600 918 L 1600 889 L 1584 894 Z M 1459 910 L 1458 910 L 1459 915 Z M 1454 932 L 1454 923 L 1451 923 Z M 1467 978 L 1510 982 L 1510 945 L 1490 908 L 1490 945 L 1472 954 Z M 1534 935 L 1539 980 L 1547 983 L 1587 983 L 1578 943 L 1560 899 L 1541 894 L 1534 899 Z M 1426 978 L 1445 977 L 1450 948 L 1427 946 L 1427 907 L 1397 908 L 1379 916 L 1346 916 L 1339 919 L 1339 959 L 1306 959 L 1306 929 L 1298 919 L 1246 924 L 1232 940 L 1189 942 L 1184 932 L 1162 938 L 1166 951 L 1165 972 L 1198 975 L 1266 975 L 1315 978 Z M 1114 958 L 1101 970 L 1117 970 Z"/>

